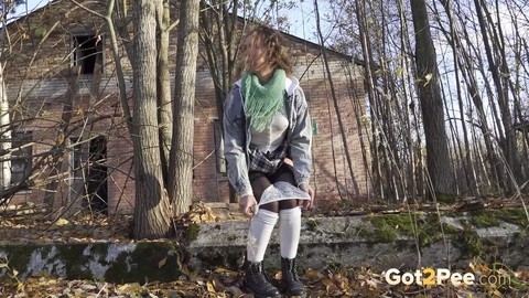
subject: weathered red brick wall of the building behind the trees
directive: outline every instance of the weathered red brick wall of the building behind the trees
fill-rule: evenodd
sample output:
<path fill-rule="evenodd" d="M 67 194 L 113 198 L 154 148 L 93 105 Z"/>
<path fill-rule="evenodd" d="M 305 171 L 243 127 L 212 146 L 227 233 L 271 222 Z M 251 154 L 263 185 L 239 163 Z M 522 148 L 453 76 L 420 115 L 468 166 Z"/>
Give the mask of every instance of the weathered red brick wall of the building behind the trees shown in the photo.
<path fill-rule="evenodd" d="M 33 131 L 35 146 L 33 152 L 48 150 L 57 138 L 56 127 L 61 121 L 63 98 L 69 77 L 65 70 L 72 60 L 72 35 L 68 32 L 101 33 L 104 42 L 104 73 L 99 86 L 99 95 L 90 97 L 91 75 L 83 75 L 79 91 L 74 100 L 73 123 L 83 119 L 86 111 L 83 103 L 88 102 L 94 117 L 101 120 L 94 124 L 90 136 L 104 136 L 107 140 L 108 203 L 110 211 L 130 211 L 134 204 L 134 183 L 132 164 L 132 143 L 122 123 L 120 104 L 117 97 L 115 66 L 110 53 L 109 40 L 105 38 L 101 22 L 90 18 L 83 10 L 74 9 L 67 1 L 40 10 L 23 23 L 25 31 L 11 26 L 12 36 L 18 36 L 19 49 L 9 58 L 6 68 L 8 97 L 13 103 L 21 103 L 25 117 L 37 117 L 24 127 Z M 99 9 L 95 7 L 94 9 Z M 35 28 L 51 29 L 55 20 L 61 25 L 50 34 L 50 39 L 40 44 Z M 82 22 L 79 21 L 82 20 Z M 30 25 L 28 25 L 30 24 Z M 14 29 L 18 29 L 17 31 Z M 25 32 L 25 33 L 24 33 Z M 175 33 L 175 32 L 174 32 Z M 174 41 L 171 44 L 174 61 Z M 313 156 L 314 173 L 312 182 L 319 198 L 332 199 L 338 194 L 345 198 L 363 195 L 369 190 L 367 169 L 365 169 L 357 127 L 358 114 L 365 114 L 365 98 L 359 68 L 345 62 L 344 57 L 328 52 L 330 68 L 334 82 L 336 104 L 333 100 L 328 76 L 323 58 L 319 55 L 319 46 L 296 38 L 291 39 L 294 61 L 294 75 L 300 78 L 307 98 L 314 125 Z M 35 50 L 37 49 L 37 50 Z M 35 53 L 33 57 L 33 54 Z M 122 60 L 126 62 L 127 60 Z M 127 87 L 131 87 L 130 65 L 126 67 Z M 174 65 L 170 66 L 174 70 Z M 174 75 L 172 75 L 174 77 Z M 217 172 L 214 141 L 214 127 L 217 119 L 215 95 L 212 78 L 204 62 L 198 61 L 194 127 L 194 180 L 193 198 L 196 201 L 219 202 L 228 200 L 228 182 Z M 337 106 L 337 109 L 335 108 Z M 356 110 L 359 110 L 358 113 Z M 338 125 L 339 111 L 343 129 Z M 74 131 L 73 137 L 82 134 L 83 126 Z M 352 159 L 354 178 L 350 177 L 345 159 L 345 146 L 342 138 L 345 134 Z M 57 204 L 71 198 L 72 173 L 69 171 L 71 152 L 64 155 L 63 174 L 60 183 Z M 40 170 L 40 178 L 46 179 L 48 169 Z M 44 181 L 45 182 L 45 181 Z M 35 185 L 31 191 L 15 196 L 13 203 L 23 201 L 42 201 L 45 183 Z"/>

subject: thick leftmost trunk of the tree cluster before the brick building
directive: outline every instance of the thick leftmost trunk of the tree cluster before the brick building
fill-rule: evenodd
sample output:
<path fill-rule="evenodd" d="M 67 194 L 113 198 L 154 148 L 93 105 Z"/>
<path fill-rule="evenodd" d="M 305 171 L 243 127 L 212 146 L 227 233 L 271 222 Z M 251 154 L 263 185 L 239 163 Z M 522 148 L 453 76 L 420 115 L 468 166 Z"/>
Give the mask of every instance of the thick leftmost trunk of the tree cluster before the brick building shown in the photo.
<path fill-rule="evenodd" d="M 171 207 L 164 190 L 156 97 L 156 7 L 151 0 L 134 1 L 133 131 L 136 205 L 134 238 L 168 236 Z"/>

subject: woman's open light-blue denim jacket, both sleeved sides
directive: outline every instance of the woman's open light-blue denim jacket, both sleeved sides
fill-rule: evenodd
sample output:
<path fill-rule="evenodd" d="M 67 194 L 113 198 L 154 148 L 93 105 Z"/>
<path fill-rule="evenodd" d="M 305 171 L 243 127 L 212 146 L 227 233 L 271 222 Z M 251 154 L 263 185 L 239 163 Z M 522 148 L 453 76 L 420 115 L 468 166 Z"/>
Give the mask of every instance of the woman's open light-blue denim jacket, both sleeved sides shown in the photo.
<path fill-rule="evenodd" d="M 252 194 L 249 171 L 250 126 L 244 108 L 240 79 L 224 104 L 224 153 L 228 162 L 228 180 L 240 195 Z M 285 82 L 285 107 L 289 116 L 287 152 L 293 161 L 298 185 L 307 183 L 312 172 L 312 125 L 305 95 L 295 77 Z"/>

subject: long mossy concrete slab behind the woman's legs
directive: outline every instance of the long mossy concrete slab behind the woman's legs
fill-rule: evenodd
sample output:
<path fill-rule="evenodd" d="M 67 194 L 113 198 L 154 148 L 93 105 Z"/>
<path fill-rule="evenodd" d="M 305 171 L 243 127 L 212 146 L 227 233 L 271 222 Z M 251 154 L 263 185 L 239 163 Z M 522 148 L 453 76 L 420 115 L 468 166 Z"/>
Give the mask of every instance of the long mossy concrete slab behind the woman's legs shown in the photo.
<path fill-rule="evenodd" d="M 217 207 L 220 211 L 215 211 L 214 221 L 198 223 L 196 240 L 186 244 L 171 240 L 42 245 L 0 242 L 0 281 L 13 270 L 20 279 L 46 273 L 68 279 L 148 283 L 175 280 L 181 264 L 193 270 L 237 269 L 244 260 L 249 219 L 234 205 Z M 478 256 L 512 269 L 529 264 L 526 226 L 498 219 L 496 226 L 477 227 L 468 224 L 469 216 L 418 213 L 413 215 L 417 228 L 406 226 L 411 222 L 409 214 L 306 216 L 302 219 L 299 267 L 369 267 L 375 272 L 466 268 Z M 266 267 L 280 267 L 279 248 L 276 228 Z"/>

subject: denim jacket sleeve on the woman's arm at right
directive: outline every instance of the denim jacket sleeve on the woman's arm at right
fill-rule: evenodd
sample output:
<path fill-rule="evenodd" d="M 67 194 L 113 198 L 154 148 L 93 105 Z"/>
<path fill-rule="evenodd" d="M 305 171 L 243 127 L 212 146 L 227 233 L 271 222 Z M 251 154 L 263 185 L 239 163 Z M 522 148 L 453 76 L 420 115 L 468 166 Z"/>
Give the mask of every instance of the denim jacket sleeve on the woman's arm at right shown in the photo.
<path fill-rule="evenodd" d="M 312 172 L 312 123 L 305 95 L 299 87 L 294 92 L 295 126 L 290 142 L 290 157 L 298 187 L 309 183 Z"/>

